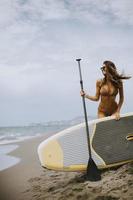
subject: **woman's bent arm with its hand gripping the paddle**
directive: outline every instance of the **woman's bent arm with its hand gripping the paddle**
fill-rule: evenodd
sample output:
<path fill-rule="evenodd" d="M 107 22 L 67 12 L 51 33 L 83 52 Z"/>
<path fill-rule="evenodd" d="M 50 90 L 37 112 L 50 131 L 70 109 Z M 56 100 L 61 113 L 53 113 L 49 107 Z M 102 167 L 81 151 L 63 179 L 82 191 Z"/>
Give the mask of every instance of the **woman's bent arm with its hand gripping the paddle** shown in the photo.
<path fill-rule="evenodd" d="M 98 101 L 100 98 L 100 88 L 101 88 L 101 80 L 97 80 L 96 82 L 96 94 L 95 96 L 90 96 L 86 94 L 84 91 L 81 91 L 81 96 L 85 96 L 85 98 L 90 99 L 92 101 Z"/>

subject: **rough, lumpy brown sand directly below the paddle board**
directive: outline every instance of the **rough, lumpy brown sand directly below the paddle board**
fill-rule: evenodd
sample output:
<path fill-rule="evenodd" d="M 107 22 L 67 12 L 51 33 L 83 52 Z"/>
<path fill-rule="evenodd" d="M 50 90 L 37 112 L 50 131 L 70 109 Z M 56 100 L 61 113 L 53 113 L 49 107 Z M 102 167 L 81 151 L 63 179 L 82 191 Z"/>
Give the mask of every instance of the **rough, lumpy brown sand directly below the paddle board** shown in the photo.
<path fill-rule="evenodd" d="M 98 182 L 85 181 L 83 173 L 43 171 L 29 180 L 33 200 L 133 200 L 133 164 L 102 172 Z"/>

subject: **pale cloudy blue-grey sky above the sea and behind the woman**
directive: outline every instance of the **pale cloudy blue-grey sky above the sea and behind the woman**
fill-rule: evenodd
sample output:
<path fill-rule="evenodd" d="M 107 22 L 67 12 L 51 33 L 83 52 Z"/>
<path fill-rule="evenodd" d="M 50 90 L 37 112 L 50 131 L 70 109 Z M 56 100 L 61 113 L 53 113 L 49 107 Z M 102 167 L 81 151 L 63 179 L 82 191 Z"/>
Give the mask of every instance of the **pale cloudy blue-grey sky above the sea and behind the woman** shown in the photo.
<path fill-rule="evenodd" d="M 83 116 L 104 60 L 133 76 L 132 0 L 0 0 L 0 126 Z M 121 113 L 132 112 L 133 78 Z M 98 102 L 86 101 L 89 116 Z"/>

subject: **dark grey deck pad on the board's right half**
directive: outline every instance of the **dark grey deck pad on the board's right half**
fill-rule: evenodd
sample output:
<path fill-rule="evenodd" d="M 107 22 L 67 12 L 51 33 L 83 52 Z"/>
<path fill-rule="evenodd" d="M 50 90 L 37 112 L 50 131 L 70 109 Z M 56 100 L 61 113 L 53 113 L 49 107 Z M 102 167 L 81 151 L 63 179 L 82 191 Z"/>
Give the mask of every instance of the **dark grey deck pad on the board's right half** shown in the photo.
<path fill-rule="evenodd" d="M 126 139 L 131 133 L 133 133 L 133 116 L 123 117 L 119 121 L 103 121 L 96 126 L 92 146 L 106 164 L 131 160 L 133 141 Z"/>

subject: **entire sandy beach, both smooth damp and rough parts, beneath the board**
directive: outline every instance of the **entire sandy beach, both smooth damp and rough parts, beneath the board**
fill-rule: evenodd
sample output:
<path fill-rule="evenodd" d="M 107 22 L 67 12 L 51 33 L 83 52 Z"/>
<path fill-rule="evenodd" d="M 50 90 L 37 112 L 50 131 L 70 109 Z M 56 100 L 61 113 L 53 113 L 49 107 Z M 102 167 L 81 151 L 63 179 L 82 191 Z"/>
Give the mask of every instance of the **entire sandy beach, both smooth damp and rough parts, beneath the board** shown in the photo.
<path fill-rule="evenodd" d="M 56 172 L 40 166 L 37 137 L 19 142 L 10 153 L 21 162 L 0 172 L 0 200 L 132 200 L 133 163 L 102 171 L 102 180 L 85 181 L 84 173 Z"/>

